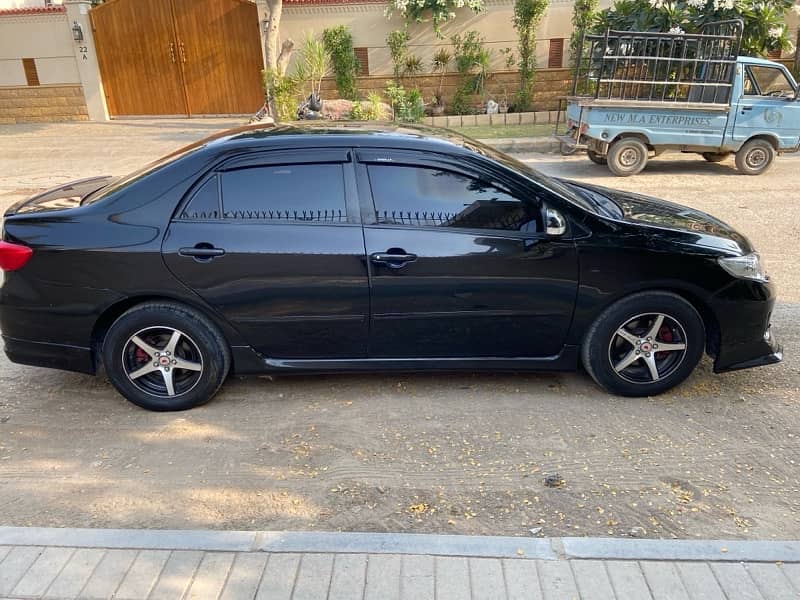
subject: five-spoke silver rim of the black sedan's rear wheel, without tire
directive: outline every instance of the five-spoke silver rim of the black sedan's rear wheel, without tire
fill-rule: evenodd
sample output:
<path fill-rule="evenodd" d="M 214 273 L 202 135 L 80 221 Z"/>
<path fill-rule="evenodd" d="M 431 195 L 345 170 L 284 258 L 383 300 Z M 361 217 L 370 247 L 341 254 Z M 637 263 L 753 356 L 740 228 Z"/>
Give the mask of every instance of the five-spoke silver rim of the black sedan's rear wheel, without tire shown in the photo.
<path fill-rule="evenodd" d="M 131 383 L 160 398 L 190 391 L 203 375 L 203 356 L 194 340 L 172 327 L 148 327 L 133 334 L 122 350 Z"/>

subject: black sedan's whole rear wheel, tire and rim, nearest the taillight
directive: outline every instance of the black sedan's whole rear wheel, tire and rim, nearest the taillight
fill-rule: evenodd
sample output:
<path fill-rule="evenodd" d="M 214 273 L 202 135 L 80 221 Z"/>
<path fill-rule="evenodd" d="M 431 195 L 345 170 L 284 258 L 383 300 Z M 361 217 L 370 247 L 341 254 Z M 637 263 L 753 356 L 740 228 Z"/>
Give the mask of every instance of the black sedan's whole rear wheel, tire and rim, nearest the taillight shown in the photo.
<path fill-rule="evenodd" d="M 102 357 L 117 391 L 154 411 L 208 402 L 231 365 L 228 344 L 216 326 L 199 312 L 169 302 L 139 304 L 119 317 L 103 340 Z"/>

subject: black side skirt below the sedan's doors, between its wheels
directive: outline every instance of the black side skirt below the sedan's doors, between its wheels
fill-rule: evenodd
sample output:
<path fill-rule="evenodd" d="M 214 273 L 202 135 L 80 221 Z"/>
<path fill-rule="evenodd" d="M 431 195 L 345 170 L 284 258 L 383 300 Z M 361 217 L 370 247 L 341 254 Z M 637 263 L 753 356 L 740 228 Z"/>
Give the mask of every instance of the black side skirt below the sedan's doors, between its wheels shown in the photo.
<path fill-rule="evenodd" d="M 352 373 L 369 371 L 574 371 L 578 347 L 564 346 L 555 356 L 541 358 L 458 357 L 458 358 L 267 358 L 249 347 L 233 350 L 234 372 L 258 373 Z"/>

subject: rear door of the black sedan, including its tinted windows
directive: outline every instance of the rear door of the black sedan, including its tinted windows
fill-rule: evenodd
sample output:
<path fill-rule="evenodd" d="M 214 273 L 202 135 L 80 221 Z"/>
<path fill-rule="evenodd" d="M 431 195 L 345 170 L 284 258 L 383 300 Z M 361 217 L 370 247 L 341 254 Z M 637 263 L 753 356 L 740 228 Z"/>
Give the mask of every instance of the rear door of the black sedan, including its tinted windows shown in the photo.
<path fill-rule="evenodd" d="M 348 149 L 225 162 L 188 194 L 162 252 L 266 356 L 366 355 L 369 287 Z"/>

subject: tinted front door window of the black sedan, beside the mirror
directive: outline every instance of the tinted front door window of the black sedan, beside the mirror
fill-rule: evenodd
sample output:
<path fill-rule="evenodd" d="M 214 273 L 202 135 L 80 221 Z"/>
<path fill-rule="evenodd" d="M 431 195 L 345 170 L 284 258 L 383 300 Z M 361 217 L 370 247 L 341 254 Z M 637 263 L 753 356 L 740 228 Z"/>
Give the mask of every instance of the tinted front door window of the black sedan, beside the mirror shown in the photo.
<path fill-rule="evenodd" d="M 536 231 L 538 211 L 480 179 L 421 167 L 370 165 L 378 223 Z"/>

